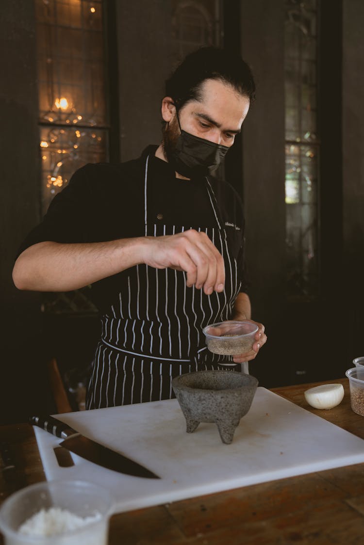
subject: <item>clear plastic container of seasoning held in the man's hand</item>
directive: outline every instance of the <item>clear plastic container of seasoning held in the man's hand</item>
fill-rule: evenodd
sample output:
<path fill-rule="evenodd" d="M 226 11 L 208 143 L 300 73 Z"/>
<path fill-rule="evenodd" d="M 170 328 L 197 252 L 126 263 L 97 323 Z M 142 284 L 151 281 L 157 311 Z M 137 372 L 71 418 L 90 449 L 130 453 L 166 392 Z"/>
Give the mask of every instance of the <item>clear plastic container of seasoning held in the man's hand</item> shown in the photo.
<path fill-rule="evenodd" d="M 204 328 L 208 350 L 213 354 L 237 356 L 252 350 L 258 325 L 228 320 Z"/>

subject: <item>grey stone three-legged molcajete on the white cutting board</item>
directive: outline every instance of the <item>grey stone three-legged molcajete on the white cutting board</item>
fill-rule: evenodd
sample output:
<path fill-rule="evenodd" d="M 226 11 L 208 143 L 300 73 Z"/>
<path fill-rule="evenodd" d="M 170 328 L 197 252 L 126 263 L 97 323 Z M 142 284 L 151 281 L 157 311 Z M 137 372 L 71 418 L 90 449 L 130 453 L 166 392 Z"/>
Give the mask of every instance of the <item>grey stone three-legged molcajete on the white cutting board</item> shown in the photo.
<path fill-rule="evenodd" d="M 194 432 L 200 422 L 214 422 L 227 444 L 250 409 L 257 386 L 255 377 L 235 371 L 197 371 L 172 380 L 187 432 Z"/>

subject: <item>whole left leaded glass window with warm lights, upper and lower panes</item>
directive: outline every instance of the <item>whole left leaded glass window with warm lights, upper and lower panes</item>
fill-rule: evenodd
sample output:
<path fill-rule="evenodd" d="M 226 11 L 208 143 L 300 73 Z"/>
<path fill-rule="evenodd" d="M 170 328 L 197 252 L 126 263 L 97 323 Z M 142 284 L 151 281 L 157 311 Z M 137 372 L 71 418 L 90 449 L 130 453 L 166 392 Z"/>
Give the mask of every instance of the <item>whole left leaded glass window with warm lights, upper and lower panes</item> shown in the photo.
<path fill-rule="evenodd" d="M 35 0 L 41 208 L 88 162 L 108 160 L 102 0 Z M 45 294 L 45 312 L 96 312 L 89 289 Z"/>

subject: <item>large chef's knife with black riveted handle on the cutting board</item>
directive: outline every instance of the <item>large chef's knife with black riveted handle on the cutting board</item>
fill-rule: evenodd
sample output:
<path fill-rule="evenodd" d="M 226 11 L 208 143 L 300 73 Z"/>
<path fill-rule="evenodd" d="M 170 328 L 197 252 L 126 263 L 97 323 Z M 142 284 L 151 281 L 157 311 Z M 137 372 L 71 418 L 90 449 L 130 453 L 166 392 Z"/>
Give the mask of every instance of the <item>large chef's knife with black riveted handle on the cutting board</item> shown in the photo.
<path fill-rule="evenodd" d="M 155 475 L 152 471 L 144 468 L 137 462 L 130 460 L 130 458 L 114 450 L 108 449 L 106 446 L 96 443 L 96 441 L 88 439 L 64 422 L 61 422 L 61 420 L 53 418 L 53 416 L 31 416 L 29 423 L 33 426 L 39 426 L 47 432 L 57 435 L 57 437 L 61 437 L 64 441 L 59 443 L 59 446 L 65 447 L 65 449 L 74 452 L 77 456 L 81 456 L 81 458 L 85 458 L 89 462 L 102 465 L 104 468 L 112 469 L 126 475 L 160 479 L 158 475 Z"/>

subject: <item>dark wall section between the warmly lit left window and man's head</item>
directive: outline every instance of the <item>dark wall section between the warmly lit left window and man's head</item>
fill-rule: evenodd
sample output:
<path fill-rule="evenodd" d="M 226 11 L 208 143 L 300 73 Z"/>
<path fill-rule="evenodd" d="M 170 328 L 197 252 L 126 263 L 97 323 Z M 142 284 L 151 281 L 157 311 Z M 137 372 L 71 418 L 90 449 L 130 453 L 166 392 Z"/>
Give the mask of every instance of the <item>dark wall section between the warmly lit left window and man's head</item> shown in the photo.
<path fill-rule="evenodd" d="M 122 161 L 139 156 L 162 135 L 160 106 L 171 52 L 171 3 L 116 2 Z"/>

